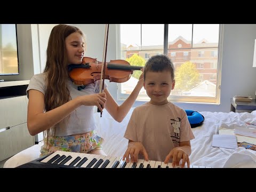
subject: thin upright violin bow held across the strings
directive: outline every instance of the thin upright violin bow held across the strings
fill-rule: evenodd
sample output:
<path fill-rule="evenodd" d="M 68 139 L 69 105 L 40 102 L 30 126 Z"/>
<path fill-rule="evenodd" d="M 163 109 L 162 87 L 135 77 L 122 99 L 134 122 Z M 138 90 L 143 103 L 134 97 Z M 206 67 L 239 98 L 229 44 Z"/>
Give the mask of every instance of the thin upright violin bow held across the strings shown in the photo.
<path fill-rule="evenodd" d="M 102 56 L 103 67 L 101 67 L 101 75 L 100 75 L 100 93 L 103 92 L 104 82 L 105 82 L 105 68 L 106 68 L 107 47 L 108 47 L 108 30 L 109 30 L 109 24 L 106 24 L 104 46 L 103 46 L 103 56 Z M 99 108 L 98 108 L 98 112 L 100 112 L 100 117 L 102 117 L 102 112 L 99 110 Z"/>

